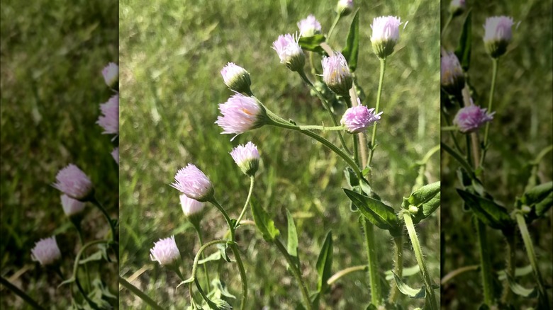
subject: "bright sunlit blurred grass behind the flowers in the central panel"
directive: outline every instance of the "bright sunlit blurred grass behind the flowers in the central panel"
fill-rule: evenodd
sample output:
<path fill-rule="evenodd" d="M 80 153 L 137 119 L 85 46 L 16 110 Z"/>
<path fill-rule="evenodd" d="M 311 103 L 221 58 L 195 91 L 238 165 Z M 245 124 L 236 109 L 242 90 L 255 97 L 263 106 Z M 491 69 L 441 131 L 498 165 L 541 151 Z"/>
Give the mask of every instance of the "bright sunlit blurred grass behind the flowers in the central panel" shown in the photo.
<path fill-rule="evenodd" d="M 238 217 L 249 183 L 228 152 L 250 140 L 262 154 L 254 195 L 272 213 L 283 231 L 282 238 L 286 236 L 285 208 L 294 215 L 308 287 L 315 288 L 315 261 L 330 229 L 335 236 L 333 272 L 366 263 L 358 214 L 350 212 L 340 188 L 347 186 L 345 163 L 296 132 L 262 127 L 230 142 L 231 136 L 221 135 L 222 130 L 214 124 L 218 103 L 232 94 L 219 73 L 227 62 L 250 72 L 252 91 L 275 113 L 300 124 L 328 123 L 325 110 L 299 76 L 279 64 L 272 42 L 278 35 L 298 31 L 296 23 L 310 13 L 323 24 L 323 32 L 328 32 L 335 4 L 315 0 L 120 2 L 120 273 L 162 306 L 183 309 L 189 297 L 186 288 L 175 289 L 180 282 L 176 275 L 150 261 L 153 242 L 176 235 L 185 277 L 199 249 L 193 228 L 182 216 L 179 193 L 169 187 L 174 173 L 186 163 L 195 163 L 211 178 L 218 200 L 230 216 Z M 400 30 L 401 39 L 386 68 L 384 115 L 373 161 L 373 187 L 398 209 L 417 176 L 415 161 L 440 140 L 439 3 L 356 1 L 355 6 L 360 9 L 361 31 L 356 74 L 367 94 L 364 104 L 369 107 L 376 102 L 379 77 L 379 60 L 369 40 L 372 18 L 396 15 L 409 22 Z M 351 21 L 348 16 L 337 25 L 330 41 L 335 50 L 345 46 Z M 343 111 L 337 108 L 338 117 Z M 338 143 L 335 134 L 324 136 Z M 435 155 L 429 162 L 429 183 L 440 178 L 439 160 Z M 440 275 L 437 215 L 418 226 L 435 282 Z M 247 218 L 251 219 L 250 212 Z M 211 207 L 203 231 L 206 240 L 225 233 L 223 218 Z M 301 297 L 284 258 L 251 226 L 242 227 L 237 238 L 250 287 L 248 308 L 294 309 Z M 391 239 L 387 232 L 378 231 L 376 240 L 383 274 L 391 268 Z M 406 243 L 405 265 L 415 264 Z M 225 265 L 223 270 L 222 280 L 230 292 L 240 294 L 235 266 Z M 420 287 L 422 280 L 416 275 L 409 283 Z M 369 304 L 367 287 L 366 274 L 352 274 L 333 285 L 323 305 L 325 309 L 361 309 Z M 120 294 L 123 308 L 147 308 L 126 289 Z M 420 301 L 406 297 L 401 303 L 406 309 L 421 306 Z"/>

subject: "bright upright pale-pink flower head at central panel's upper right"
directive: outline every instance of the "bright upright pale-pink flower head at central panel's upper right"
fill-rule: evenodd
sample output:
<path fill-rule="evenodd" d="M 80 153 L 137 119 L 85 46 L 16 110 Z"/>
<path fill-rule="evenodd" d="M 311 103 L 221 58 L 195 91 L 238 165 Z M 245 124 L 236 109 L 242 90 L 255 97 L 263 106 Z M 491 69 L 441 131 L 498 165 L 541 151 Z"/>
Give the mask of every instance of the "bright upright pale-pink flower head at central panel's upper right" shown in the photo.
<path fill-rule="evenodd" d="M 371 42 L 374 52 L 385 58 L 393 52 L 393 47 L 399 40 L 400 18 L 396 16 L 380 16 L 372 21 Z"/>

